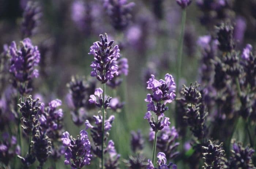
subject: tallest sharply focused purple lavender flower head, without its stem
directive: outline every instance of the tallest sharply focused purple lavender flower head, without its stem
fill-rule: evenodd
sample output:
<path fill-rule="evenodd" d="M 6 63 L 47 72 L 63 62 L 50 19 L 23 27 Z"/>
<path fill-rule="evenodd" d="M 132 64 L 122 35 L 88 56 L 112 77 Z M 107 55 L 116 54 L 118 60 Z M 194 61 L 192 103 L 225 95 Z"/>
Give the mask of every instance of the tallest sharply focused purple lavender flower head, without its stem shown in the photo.
<path fill-rule="evenodd" d="M 105 36 L 105 37 L 104 37 Z M 97 77 L 101 83 L 106 83 L 118 75 L 118 66 L 113 61 L 120 58 L 118 46 L 112 46 L 114 41 L 108 42 L 108 35 L 99 35 L 101 42 L 94 42 L 89 54 L 94 56 L 91 63 L 91 76 Z"/>

